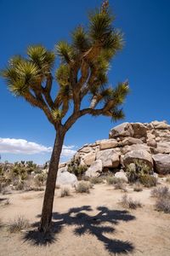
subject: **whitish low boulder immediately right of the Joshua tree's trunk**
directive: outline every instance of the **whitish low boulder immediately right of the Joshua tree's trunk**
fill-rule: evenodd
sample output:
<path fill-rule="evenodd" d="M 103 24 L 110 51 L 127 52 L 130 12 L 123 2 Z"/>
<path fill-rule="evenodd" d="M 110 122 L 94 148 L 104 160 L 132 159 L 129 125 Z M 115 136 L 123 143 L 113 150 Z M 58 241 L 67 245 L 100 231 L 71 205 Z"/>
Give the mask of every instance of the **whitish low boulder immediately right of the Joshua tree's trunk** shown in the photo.
<path fill-rule="evenodd" d="M 67 172 L 67 166 L 59 168 L 57 173 L 56 185 L 71 185 L 77 184 L 77 177 L 73 173 Z"/>

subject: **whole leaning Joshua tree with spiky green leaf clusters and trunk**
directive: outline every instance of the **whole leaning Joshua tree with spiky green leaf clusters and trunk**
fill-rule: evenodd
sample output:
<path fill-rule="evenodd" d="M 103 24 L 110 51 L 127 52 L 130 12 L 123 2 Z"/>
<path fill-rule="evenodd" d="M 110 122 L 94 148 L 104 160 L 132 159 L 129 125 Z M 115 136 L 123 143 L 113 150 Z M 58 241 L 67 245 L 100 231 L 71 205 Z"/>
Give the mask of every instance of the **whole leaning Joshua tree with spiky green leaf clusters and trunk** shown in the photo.
<path fill-rule="evenodd" d="M 105 1 L 89 15 L 87 29 L 77 26 L 71 33 L 71 44 L 59 42 L 54 51 L 42 45 L 30 46 L 27 57 L 14 56 L 2 72 L 14 96 L 22 96 L 33 107 L 42 109 L 56 131 L 39 227 L 42 232 L 51 223 L 59 156 L 66 132 L 85 114 L 104 115 L 113 120 L 124 116 L 120 106 L 127 96 L 127 81 L 114 88 L 107 85 L 111 59 L 123 45 L 122 32 L 116 30 L 113 21 Z M 60 61 L 53 74 L 55 55 Z M 56 95 L 51 96 L 54 81 L 59 87 Z M 85 97 L 90 103 L 82 108 Z M 70 116 L 69 108 L 73 109 Z"/>

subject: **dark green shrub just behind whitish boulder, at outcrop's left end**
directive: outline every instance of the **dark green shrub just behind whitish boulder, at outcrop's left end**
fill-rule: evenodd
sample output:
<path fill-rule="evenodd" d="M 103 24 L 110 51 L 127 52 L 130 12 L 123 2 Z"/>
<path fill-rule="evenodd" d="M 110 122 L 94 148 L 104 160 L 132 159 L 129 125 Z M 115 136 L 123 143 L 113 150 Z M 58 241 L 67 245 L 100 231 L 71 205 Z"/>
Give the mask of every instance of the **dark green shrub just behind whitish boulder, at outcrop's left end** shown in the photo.
<path fill-rule="evenodd" d="M 79 179 L 83 177 L 84 173 L 88 170 L 88 167 L 81 165 L 81 158 L 73 158 L 68 164 L 68 172 L 74 173 Z"/>

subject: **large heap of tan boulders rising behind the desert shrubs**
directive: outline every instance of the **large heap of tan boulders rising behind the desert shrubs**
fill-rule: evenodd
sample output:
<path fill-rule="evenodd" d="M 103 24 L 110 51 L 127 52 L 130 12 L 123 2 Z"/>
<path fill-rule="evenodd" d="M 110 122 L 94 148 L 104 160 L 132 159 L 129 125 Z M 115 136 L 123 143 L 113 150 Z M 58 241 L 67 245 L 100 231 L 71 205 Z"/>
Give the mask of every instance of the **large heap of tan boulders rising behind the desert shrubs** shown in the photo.
<path fill-rule="evenodd" d="M 101 168 L 125 170 L 134 160 L 143 161 L 154 172 L 170 172 L 170 125 L 166 121 L 117 125 L 111 129 L 109 139 L 84 145 L 75 154 L 77 157 L 81 165 L 88 166 L 88 177 L 99 176 Z"/>

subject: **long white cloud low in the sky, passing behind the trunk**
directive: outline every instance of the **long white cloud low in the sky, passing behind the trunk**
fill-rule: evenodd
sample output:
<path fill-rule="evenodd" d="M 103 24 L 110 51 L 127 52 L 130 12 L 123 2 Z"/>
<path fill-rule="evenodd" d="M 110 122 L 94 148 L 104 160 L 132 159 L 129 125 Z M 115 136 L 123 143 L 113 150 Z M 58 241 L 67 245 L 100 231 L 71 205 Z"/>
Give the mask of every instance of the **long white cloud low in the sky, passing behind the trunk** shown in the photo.
<path fill-rule="evenodd" d="M 71 157 L 77 151 L 75 146 L 63 146 L 61 157 Z M 24 139 L 0 138 L 0 153 L 10 154 L 40 154 L 51 153 L 52 147 L 46 147 L 41 144 L 28 142 Z"/>

